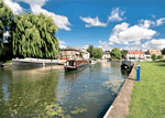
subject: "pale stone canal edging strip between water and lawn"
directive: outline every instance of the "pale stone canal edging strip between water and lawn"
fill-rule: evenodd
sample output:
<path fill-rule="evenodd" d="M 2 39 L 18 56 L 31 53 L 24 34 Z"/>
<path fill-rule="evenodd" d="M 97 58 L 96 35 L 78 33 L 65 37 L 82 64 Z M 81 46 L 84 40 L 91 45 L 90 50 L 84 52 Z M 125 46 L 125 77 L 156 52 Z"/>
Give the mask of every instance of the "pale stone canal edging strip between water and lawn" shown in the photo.
<path fill-rule="evenodd" d="M 129 101 L 131 99 L 131 93 L 133 89 L 135 67 L 136 64 L 134 64 L 120 93 L 118 94 L 117 98 L 114 99 L 113 104 L 110 106 L 103 118 L 123 118 L 129 114 Z"/>

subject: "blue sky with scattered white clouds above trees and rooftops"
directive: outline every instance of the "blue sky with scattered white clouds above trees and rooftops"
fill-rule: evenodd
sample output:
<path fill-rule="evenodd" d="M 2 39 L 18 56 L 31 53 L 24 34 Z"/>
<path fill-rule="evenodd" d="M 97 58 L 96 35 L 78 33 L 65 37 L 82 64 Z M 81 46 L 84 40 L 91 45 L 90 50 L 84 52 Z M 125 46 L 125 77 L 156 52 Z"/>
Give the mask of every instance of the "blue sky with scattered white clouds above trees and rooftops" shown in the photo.
<path fill-rule="evenodd" d="M 61 47 L 165 47 L 165 0 L 3 0 L 14 14 L 51 15 Z"/>

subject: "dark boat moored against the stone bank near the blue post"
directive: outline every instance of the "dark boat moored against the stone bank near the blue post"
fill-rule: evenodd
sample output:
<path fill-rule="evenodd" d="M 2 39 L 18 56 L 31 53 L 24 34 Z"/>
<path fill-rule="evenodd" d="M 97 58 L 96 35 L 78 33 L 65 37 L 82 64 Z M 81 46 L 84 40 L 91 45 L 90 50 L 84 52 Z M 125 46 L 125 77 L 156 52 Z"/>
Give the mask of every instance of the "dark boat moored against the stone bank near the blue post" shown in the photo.
<path fill-rule="evenodd" d="M 131 69 L 134 65 L 133 61 L 122 61 L 121 69 Z"/>

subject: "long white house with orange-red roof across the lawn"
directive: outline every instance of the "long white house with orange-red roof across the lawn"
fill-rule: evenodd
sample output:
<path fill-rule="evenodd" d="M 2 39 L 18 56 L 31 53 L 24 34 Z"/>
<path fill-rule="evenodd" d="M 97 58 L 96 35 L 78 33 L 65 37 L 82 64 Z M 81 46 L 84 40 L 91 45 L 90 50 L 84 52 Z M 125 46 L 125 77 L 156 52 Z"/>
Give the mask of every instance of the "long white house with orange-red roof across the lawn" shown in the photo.
<path fill-rule="evenodd" d="M 144 60 L 145 58 L 145 53 L 142 51 L 128 51 L 127 53 L 127 58 L 128 60 Z"/>

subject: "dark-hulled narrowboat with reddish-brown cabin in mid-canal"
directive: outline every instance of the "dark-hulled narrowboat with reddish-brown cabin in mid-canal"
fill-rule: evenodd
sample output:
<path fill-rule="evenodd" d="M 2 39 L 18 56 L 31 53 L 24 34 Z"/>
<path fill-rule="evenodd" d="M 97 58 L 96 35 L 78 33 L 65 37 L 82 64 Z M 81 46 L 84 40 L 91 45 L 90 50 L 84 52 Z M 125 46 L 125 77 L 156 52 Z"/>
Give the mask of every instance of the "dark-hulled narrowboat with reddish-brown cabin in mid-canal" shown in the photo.
<path fill-rule="evenodd" d="M 86 60 L 68 60 L 66 62 L 65 72 L 77 72 L 81 71 L 89 65 L 89 62 Z"/>

